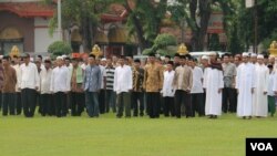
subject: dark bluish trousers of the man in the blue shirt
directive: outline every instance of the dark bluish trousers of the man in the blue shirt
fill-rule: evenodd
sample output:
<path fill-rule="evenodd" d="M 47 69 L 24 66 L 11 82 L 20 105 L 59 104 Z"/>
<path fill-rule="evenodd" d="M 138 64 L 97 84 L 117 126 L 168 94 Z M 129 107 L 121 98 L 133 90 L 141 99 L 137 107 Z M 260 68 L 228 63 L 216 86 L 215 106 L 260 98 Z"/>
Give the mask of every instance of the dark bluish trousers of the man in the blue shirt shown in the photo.
<path fill-rule="evenodd" d="M 90 117 L 99 117 L 99 93 L 85 91 L 85 105 Z"/>

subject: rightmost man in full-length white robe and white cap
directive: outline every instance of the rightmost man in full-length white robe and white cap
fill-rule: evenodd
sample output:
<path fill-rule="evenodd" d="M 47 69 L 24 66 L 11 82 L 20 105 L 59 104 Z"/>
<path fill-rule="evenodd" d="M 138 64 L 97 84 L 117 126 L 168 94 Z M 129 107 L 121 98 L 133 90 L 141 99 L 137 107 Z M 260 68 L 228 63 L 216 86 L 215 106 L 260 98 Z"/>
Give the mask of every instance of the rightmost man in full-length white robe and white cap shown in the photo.
<path fill-rule="evenodd" d="M 264 55 L 257 56 L 257 64 L 255 65 L 255 85 L 253 101 L 253 116 L 266 117 L 268 113 L 267 105 L 267 84 L 268 84 L 269 71 L 264 64 Z"/>

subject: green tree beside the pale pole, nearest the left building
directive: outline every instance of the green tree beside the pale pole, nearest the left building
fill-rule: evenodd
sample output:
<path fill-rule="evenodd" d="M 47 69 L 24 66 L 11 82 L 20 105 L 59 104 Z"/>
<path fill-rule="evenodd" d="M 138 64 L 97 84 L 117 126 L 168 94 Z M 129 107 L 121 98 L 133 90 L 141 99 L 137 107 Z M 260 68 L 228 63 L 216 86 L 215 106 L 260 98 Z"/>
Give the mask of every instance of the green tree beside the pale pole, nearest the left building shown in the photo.
<path fill-rule="evenodd" d="M 53 0 L 44 0 L 47 4 L 53 4 Z M 103 13 L 111 0 L 63 0 L 62 1 L 62 28 L 69 29 L 76 24 L 82 35 L 84 51 L 89 51 L 94 42 L 100 14 Z M 57 13 L 51 19 L 50 33 L 57 28 Z"/>

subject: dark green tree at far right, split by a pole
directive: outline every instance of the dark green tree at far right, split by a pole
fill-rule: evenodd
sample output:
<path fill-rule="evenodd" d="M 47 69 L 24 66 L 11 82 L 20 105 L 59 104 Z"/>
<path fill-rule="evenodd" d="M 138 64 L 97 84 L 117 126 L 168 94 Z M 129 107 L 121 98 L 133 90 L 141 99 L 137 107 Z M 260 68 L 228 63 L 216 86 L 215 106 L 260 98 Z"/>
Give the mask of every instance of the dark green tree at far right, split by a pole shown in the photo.
<path fill-rule="evenodd" d="M 245 8 L 245 1 L 240 0 L 240 8 L 238 8 L 238 34 L 243 39 L 244 45 L 249 46 L 254 44 L 255 39 L 255 9 L 257 12 L 257 43 L 263 43 L 265 49 L 268 49 L 270 40 L 276 40 L 276 0 L 256 0 L 256 7 Z"/>

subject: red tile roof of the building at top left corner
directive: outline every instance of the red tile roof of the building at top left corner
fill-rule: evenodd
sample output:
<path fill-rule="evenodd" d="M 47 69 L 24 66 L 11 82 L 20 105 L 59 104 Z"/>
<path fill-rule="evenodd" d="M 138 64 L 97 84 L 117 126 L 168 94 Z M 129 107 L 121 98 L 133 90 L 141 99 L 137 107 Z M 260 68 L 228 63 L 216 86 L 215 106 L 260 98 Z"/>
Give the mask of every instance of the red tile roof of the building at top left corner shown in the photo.
<path fill-rule="evenodd" d="M 53 17 L 54 8 L 42 4 L 41 2 L 2 2 L 0 3 L 0 11 L 10 11 L 17 13 L 19 17 Z"/>

